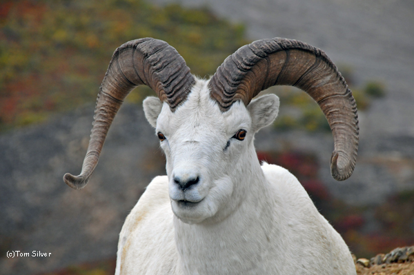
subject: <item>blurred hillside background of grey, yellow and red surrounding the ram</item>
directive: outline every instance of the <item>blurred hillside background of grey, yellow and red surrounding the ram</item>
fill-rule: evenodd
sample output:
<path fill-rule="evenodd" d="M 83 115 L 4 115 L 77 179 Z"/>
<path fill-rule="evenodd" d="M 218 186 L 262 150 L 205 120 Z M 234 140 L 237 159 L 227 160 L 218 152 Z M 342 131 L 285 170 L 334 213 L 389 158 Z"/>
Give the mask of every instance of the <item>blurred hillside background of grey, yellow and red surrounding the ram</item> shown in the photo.
<path fill-rule="evenodd" d="M 79 174 L 112 52 L 163 39 L 208 78 L 239 47 L 286 37 L 324 50 L 357 101 L 360 142 L 350 179 L 331 178 L 333 139 L 316 103 L 290 87 L 259 159 L 302 182 L 351 251 L 370 258 L 414 245 L 414 2 L 409 0 L 0 1 L 1 274 L 113 274 L 126 215 L 164 156 L 141 101 L 127 98 L 90 183 Z M 40 251 L 50 257 L 8 258 Z"/>

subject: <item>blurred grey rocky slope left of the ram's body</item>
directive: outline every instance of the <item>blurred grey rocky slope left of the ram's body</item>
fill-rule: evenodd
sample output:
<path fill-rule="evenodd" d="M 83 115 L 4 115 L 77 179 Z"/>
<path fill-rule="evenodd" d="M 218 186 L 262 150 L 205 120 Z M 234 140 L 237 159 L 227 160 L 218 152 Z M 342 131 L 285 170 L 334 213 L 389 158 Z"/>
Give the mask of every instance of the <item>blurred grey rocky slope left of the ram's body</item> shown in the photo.
<path fill-rule="evenodd" d="M 164 174 L 158 139 L 141 108 L 115 119 L 93 179 L 81 191 L 62 177 L 79 174 L 93 105 L 43 125 L 0 136 L 1 274 L 30 274 L 116 254 L 126 215 L 153 176 Z M 51 253 L 7 258 L 8 251 Z"/>

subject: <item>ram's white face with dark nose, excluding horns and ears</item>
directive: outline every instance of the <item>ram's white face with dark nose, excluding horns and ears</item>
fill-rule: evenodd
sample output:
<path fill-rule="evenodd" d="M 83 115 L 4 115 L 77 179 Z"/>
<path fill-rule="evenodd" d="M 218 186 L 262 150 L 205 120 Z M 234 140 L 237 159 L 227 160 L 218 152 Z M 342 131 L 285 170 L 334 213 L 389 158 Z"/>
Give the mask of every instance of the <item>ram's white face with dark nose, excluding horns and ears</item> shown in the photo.
<path fill-rule="evenodd" d="M 207 83 L 197 81 L 175 112 L 164 103 L 156 125 L 152 121 L 166 154 L 172 212 L 185 223 L 229 214 L 242 191 L 237 183 L 246 158 L 251 159 L 248 149 L 256 132 L 244 104 L 236 102 L 222 113 L 210 99 Z"/>

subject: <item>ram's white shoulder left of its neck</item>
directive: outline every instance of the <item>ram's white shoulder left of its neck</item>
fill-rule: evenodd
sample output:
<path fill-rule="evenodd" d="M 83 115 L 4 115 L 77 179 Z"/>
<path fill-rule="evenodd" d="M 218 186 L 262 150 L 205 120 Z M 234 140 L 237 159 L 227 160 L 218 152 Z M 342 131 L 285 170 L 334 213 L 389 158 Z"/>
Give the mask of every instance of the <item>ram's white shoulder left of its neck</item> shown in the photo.
<path fill-rule="evenodd" d="M 117 272 L 168 274 L 177 269 L 177 249 L 167 176 L 151 181 L 132 209 L 119 236 Z M 137 269 L 139 269 L 137 271 Z M 176 274 L 172 272 L 170 274 Z"/>

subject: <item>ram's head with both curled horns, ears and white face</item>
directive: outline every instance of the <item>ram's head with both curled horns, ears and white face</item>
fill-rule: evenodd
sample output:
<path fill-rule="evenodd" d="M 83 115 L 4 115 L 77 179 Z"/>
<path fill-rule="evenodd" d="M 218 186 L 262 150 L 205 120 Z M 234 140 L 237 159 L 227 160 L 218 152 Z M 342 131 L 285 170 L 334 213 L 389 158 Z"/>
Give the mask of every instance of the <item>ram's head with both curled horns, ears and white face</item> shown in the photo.
<path fill-rule="evenodd" d="M 190 74 L 168 43 L 146 38 L 125 43 L 113 54 L 82 172 L 63 177 L 70 187 L 86 185 L 121 103 L 142 84 L 158 96 L 146 99 L 144 110 L 166 153 L 172 210 L 183 220 L 213 216 L 231 201 L 229 196 L 243 192 L 233 187 L 237 174 L 246 176 L 246 167 L 258 163 L 253 135 L 275 119 L 279 107 L 274 95 L 252 99 L 273 85 L 293 85 L 319 104 L 335 142 L 332 176 L 343 181 L 353 172 L 359 132 L 355 100 L 321 50 L 290 39 L 255 41 L 230 55 L 204 81 Z"/>

